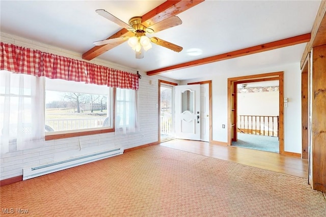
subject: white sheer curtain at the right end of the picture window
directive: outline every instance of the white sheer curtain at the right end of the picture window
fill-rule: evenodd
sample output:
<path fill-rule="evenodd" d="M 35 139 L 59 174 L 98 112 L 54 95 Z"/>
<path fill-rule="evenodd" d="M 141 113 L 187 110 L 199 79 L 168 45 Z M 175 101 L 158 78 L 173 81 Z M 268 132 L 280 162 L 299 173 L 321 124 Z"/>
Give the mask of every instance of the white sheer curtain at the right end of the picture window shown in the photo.
<path fill-rule="evenodd" d="M 138 91 L 116 89 L 115 132 L 125 134 L 139 130 Z"/>

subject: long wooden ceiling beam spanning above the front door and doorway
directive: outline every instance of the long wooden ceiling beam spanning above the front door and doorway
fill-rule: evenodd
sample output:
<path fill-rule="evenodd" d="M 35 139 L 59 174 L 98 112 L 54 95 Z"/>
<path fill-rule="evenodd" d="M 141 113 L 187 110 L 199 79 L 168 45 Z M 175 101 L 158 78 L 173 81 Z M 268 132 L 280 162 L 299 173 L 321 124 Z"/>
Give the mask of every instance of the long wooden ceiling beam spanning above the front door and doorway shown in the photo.
<path fill-rule="evenodd" d="M 165 68 L 148 71 L 147 75 L 155 75 L 155 74 L 160 74 L 160 73 L 164 73 L 164 72 L 168 72 L 168 71 L 172 71 L 172 70 L 184 69 L 184 68 L 199 66 L 199 65 L 208 64 L 208 63 L 214 63 L 214 62 L 218 62 L 218 61 L 222 61 L 222 60 L 228 60 L 228 59 L 232 59 L 232 58 L 251 55 L 253 53 L 273 50 L 273 49 L 291 46 L 291 45 L 295 45 L 295 44 L 301 44 L 301 43 L 305 43 L 305 42 L 309 42 L 309 41 L 310 41 L 310 33 L 307 33 L 307 34 L 300 35 L 300 36 L 295 36 L 295 37 L 291 37 L 291 38 L 287 38 L 287 39 L 269 42 L 266 44 L 261 44 L 261 45 L 257 45 L 257 46 L 253 46 L 253 47 L 248 47 L 248 48 L 244 48 L 244 49 L 240 49 L 240 50 L 223 53 L 221 55 L 216 55 L 216 56 L 212 56 L 212 57 L 203 58 L 200 60 L 194 60 L 194 61 L 190 61 L 190 62 L 186 62 L 186 63 L 177 64 L 174 66 L 168 66 Z"/>

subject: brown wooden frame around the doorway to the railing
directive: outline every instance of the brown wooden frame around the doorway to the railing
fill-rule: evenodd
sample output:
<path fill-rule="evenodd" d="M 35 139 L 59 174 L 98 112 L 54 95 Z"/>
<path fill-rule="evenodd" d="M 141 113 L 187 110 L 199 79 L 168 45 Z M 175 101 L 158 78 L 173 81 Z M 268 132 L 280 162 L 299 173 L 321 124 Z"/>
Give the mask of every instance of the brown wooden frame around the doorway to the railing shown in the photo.
<path fill-rule="evenodd" d="M 232 133 L 236 140 L 236 84 L 262 82 L 265 80 L 279 80 L 279 153 L 287 154 L 284 151 L 284 95 L 283 95 L 283 71 L 271 72 L 256 75 L 246 75 L 241 77 L 228 78 L 228 143 L 232 145 Z M 232 97 L 234 99 L 232 100 Z M 234 123 L 232 123 L 232 120 Z M 232 130 L 233 127 L 233 130 Z M 292 153 L 288 153 L 291 155 Z"/>

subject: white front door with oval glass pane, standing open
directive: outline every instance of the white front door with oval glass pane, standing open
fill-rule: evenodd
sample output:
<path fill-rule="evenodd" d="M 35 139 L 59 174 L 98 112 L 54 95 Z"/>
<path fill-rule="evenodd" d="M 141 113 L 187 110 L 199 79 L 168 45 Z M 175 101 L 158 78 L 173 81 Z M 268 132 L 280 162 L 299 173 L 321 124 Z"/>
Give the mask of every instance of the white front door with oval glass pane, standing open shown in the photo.
<path fill-rule="evenodd" d="M 200 85 L 175 86 L 177 139 L 200 140 Z"/>

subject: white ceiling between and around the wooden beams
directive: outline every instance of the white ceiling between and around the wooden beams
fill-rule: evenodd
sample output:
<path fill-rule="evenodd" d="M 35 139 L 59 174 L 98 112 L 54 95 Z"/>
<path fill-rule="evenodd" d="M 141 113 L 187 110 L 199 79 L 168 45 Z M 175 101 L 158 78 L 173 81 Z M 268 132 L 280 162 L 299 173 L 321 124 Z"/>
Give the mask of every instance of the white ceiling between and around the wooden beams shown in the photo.
<path fill-rule="evenodd" d="M 80 54 L 122 28 L 99 16 L 104 9 L 124 22 L 165 1 L 0 1 L 1 32 Z M 179 53 L 153 45 L 144 59 L 123 43 L 98 58 L 150 71 L 221 53 L 310 33 L 320 1 L 205 1 L 180 13 L 182 24 L 152 36 L 183 47 Z M 299 63 L 305 43 L 215 62 L 162 76 L 184 80 Z M 189 56 L 197 48 L 199 56 Z"/>

